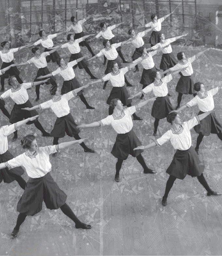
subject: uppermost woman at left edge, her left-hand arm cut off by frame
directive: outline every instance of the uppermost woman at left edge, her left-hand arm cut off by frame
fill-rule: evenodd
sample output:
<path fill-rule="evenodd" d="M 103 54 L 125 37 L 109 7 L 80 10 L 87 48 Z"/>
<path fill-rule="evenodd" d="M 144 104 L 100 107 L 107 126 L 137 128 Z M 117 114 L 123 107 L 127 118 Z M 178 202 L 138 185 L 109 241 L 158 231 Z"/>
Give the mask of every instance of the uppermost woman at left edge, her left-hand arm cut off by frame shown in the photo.
<path fill-rule="evenodd" d="M 2 62 L 3 62 L 2 66 L 1 66 L 1 70 L 8 67 L 8 66 L 11 66 L 14 63 L 13 60 L 14 60 L 14 53 L 15 52 L 18 52 L 22 49 L 31 47 L 31 45 L 24 45 L 24 46 L 21 46 L 21 47 L 18 47 L 18 48 L 9 49 L 10 44 L 7 41 L 2 42 L 1 46 L 3 48 L 3 50 L 0 51 L 0 57 L 1 57 Z M 4 74 L 2 74 L 0 76 L 1 77 L 1 86 L 2 86 L 1 92 L 5 91 L 5 89 L 4 89 L 5 78 L 8 78 L 9 76 L 16 76 L 19 83 L 23 83 L 22 79 L 19 77 L 19 73 L 20 72 L 19 72 L 18 68 L 13 65 L 6 72 L 4 72 Z"/>

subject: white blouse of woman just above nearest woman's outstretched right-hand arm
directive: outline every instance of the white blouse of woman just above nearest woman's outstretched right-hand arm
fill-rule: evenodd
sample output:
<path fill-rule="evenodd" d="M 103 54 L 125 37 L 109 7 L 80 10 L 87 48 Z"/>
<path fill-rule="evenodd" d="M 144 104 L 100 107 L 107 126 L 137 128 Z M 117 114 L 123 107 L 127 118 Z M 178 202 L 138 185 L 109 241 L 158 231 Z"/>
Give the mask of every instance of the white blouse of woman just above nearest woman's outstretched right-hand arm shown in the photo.
<path fill-rule="evenodd" d="M 52 111 L 55 113 L 57 117 L 62 117 L 70 112 L 70 108 L 68 105 L 68 101 L 76 97 L 77 94 L 74 91 L 68 92 L 66 94 L 60 95 L 58 99 L 54 100 L 48 100 L 44 103 L 41 103 L 38 105 L 39 109 L 49 109 L 51 108 Z"/>

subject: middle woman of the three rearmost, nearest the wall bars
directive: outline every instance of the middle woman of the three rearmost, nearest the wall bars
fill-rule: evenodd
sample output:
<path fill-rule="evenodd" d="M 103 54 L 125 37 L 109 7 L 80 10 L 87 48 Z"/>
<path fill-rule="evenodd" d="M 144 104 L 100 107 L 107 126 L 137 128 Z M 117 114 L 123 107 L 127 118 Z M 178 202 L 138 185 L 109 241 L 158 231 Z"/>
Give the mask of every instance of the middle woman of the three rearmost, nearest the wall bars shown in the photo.
<path fill-rule="evenodd" d="M 106 23 L 105 22 L 101 22 L 100 23 L 100 27 L 101 27 L 101 31 L 96 35 L 96 39 L 100 38 L 100 37 L 103 37 L 104 39 L 107 39 L 110 41 L 110 44 L 113 44 L 113 43 L 118 43 L 117 39 L 116 39 L 116 36 L 113 35 L 112 33 L 112 30 L 114 28 L 117 28 L 118 26 L 120 26 L 121 24 L 123 23 L 118 23 L 118 24 L 115 24 L 115 25 L 112 25 L 112 26 L 106 26 Z M 116 48 L 118 54 L 119 54 L 119 57 L 123 60 L 123 63 L 129 63 L 128 61 L 125 60 L 122 52 L 121 52 L 121 46 L 117 47 Z M 106 56 L 104 55 L 104 63 L 103 65 L 106 65 Z"/>

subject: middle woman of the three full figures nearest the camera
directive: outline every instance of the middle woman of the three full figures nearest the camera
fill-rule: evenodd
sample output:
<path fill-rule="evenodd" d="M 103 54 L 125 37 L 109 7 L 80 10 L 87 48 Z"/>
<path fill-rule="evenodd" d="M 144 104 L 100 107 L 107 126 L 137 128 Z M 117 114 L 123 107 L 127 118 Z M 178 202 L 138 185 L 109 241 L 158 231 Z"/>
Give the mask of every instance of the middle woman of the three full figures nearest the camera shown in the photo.
<path fill-rule="evenodd" d="M 116 137 L 116 142 L 113 145 L 111 154 L 116 157 L 116 174 L 115 181 L 119 182 L 119 171 L 123 164 L 123 161 L 128 158 L 130 154 L 133 157 L 137 158 L 137 161 L 142 165 L 144 173 L 156 173 L 147 167 L 141 153 L 142 150 L 133 151 L 135 145 L 141 145 L 140 140 L 136 136 L 133 130 L 133 121 L 131 115 L 136 111 L 139 111 L 141 107 L 145 106 L 148 102 L 153 101 L 155 99 L 151 98 L 140 102 L 139 104 L 126 108 L 123 108 L 123 103 L 119 99 L 112 99 L 110 103 L 110 107 L 113 109 L 113 114 L 107 116 L 106 118 L 94 122 L 91 124 L 81 124 L 79 128 L 91 128 L 97 126 L 111 125 L 112 128 L 118 133 Z"/>

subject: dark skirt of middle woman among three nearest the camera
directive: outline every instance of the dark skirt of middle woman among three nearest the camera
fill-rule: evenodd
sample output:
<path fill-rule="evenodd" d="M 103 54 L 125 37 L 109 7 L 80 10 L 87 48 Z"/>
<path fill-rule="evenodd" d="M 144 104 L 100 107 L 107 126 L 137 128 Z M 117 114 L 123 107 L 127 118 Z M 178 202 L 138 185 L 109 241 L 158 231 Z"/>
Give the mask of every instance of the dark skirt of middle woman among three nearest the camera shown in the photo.
<path fill-rule="evenodd" d="M 124 134 L 117 134 L 116 141 L 113 145 L 111 154 L 122 160 L 126 160 L 130 154 L 133 157 L 139 156 L 143 150 L 133 150 L 135 147 L 141 146 L 141 142 L 136 136 L 133 129 Z"/>

